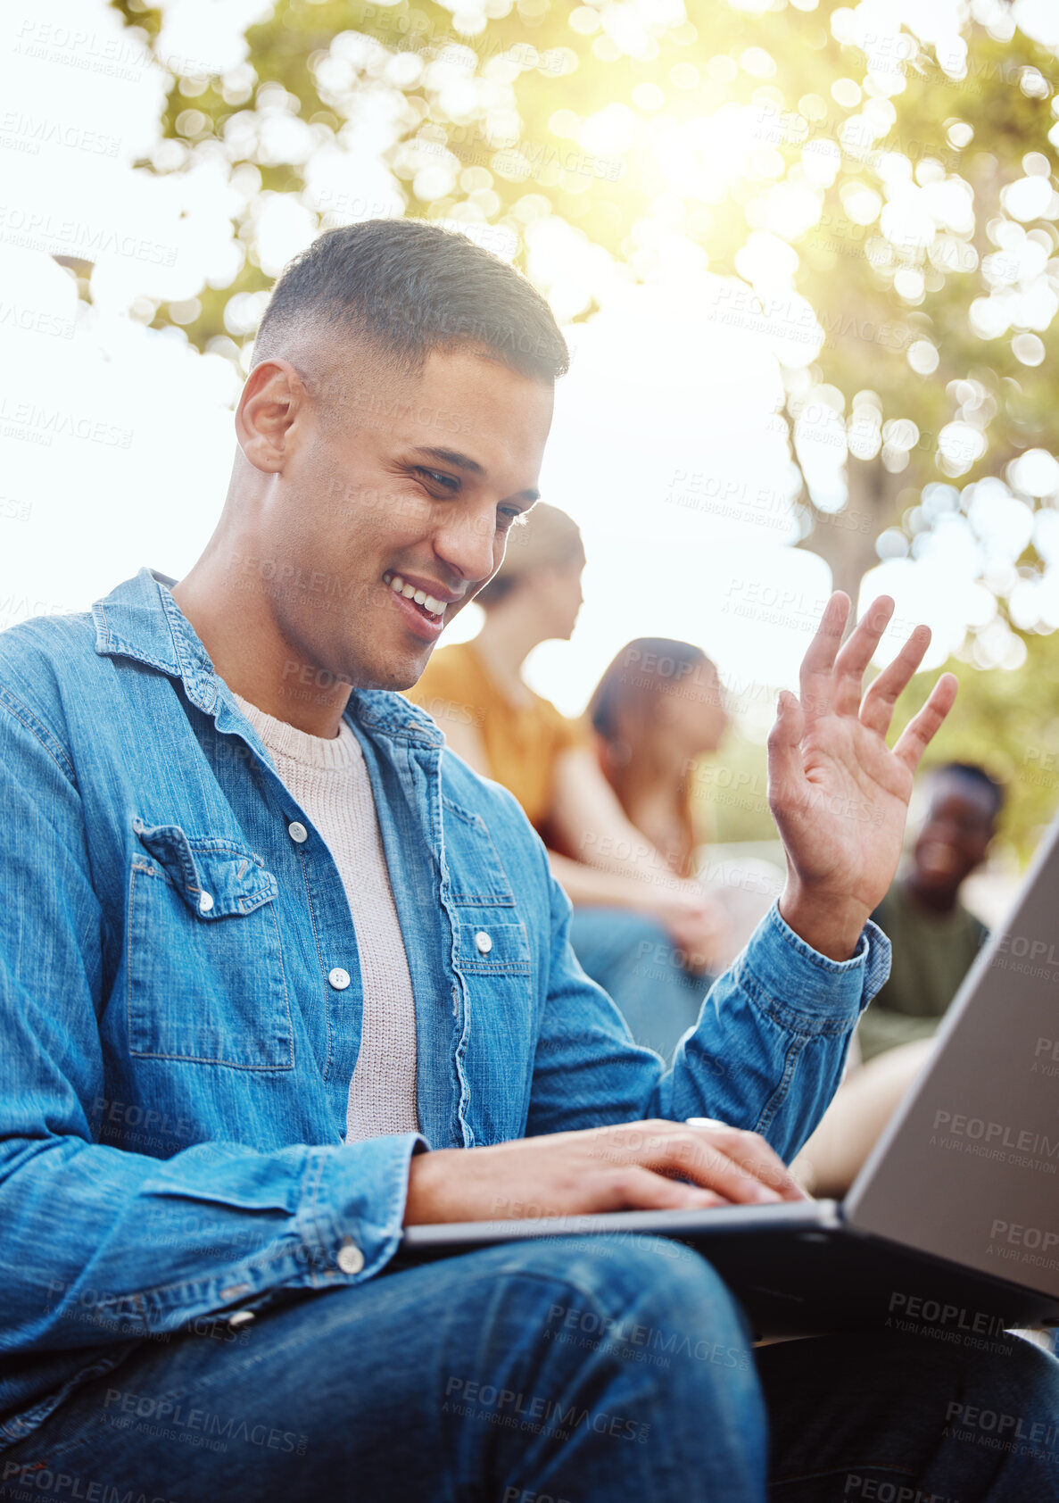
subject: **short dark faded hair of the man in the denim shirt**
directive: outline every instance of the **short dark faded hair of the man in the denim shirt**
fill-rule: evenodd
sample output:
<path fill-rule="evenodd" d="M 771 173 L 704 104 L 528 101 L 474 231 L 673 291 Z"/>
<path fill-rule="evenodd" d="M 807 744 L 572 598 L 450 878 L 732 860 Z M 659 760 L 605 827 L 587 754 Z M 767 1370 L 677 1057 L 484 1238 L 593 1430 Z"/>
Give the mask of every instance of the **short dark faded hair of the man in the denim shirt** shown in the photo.
<path fill-rule="evenodd" d="M 461 346 L 545 382 L 569 367 L 554 314 L 527 278 L 424 219 L 367 219 L 320 234 L 276 281 L 252 365 L 290 358 L 309 331 L 367 341 L 403 374 Z"/>

